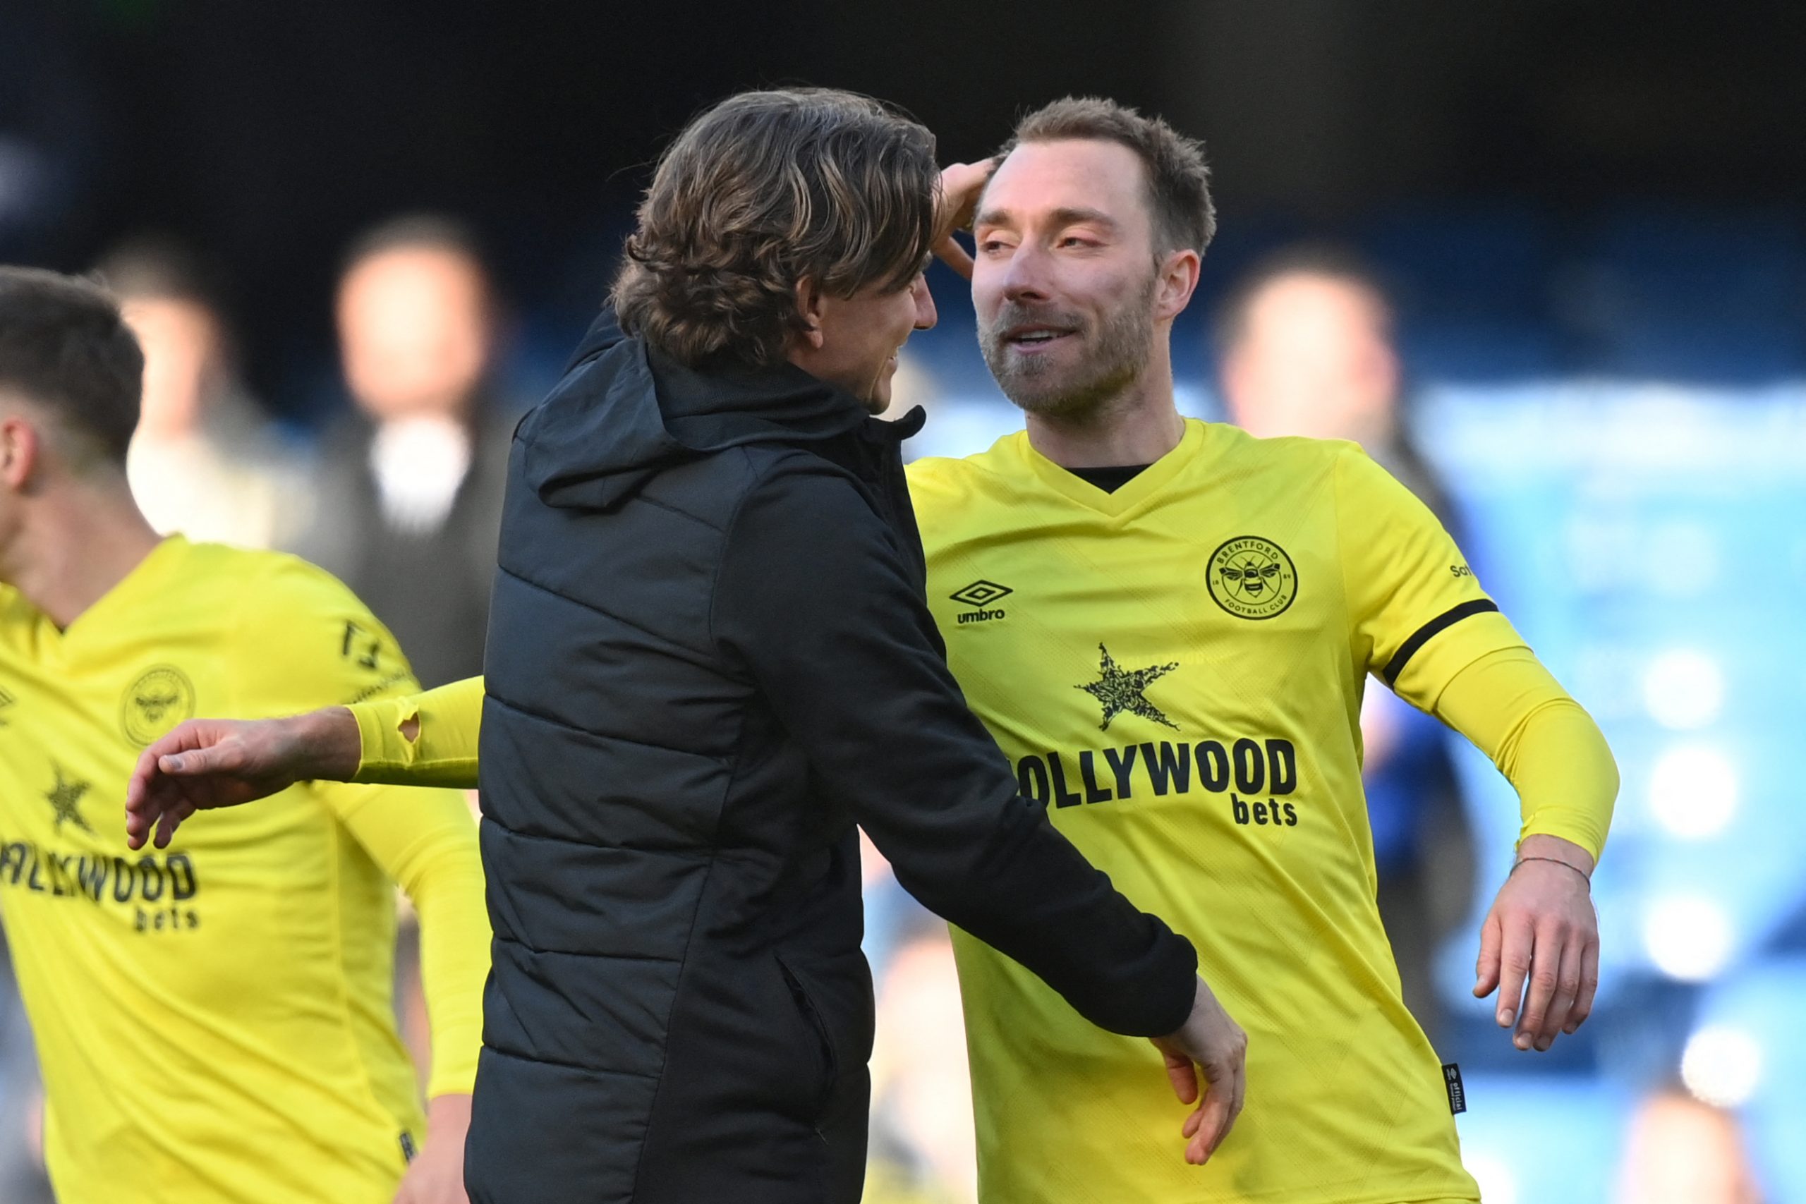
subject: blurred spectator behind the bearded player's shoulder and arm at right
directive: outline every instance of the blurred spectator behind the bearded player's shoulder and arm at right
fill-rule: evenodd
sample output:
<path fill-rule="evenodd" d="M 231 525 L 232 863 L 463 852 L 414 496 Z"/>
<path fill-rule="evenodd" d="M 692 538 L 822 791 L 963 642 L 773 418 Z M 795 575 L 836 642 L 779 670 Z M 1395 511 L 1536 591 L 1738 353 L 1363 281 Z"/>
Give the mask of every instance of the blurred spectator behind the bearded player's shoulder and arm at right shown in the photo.
<path fill-rule="evenodd" d="M 1215 343 L 1232 422 L 1259 437 L 1358 442 L 1461 542 L 1447 493 L 1410 439 L 1392 307 L 1360 256 L 1300 244 L 1261 260 L 1226 294 Z M 1362 740 L 1380 915 L 1405 1005 L 1434 1042 L 1434 953 L 1468 913 L 1474 841 L 1441 724 L 1369 684 Z"/>

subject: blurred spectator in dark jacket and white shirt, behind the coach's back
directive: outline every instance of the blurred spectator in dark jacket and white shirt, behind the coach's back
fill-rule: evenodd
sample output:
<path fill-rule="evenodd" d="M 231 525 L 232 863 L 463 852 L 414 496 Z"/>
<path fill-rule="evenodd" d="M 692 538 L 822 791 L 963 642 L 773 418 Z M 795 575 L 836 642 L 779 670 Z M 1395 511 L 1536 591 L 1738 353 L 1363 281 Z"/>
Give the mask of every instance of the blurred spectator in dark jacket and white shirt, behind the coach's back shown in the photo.
<path fill-rule="evenodd" d="M 356 413 L 321 442 L 302 556 L 352 587 L 423 686 L 482 671 L 507 475 L 495 300 L 475 238 L 439 217 L 363 235 L 338 291 Z"/>

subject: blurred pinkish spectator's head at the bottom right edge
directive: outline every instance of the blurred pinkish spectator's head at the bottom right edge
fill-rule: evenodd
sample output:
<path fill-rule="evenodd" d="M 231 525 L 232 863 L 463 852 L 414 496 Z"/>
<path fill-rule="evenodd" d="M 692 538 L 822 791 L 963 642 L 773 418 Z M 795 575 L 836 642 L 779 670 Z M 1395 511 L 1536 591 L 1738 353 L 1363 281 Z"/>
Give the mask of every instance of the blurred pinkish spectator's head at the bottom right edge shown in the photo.
<path fill-rule="evenodd" d="M 1737 1117 L 1680 1087 L 1638 1105 L 1616 1204 L 1761 1204 Z"/>

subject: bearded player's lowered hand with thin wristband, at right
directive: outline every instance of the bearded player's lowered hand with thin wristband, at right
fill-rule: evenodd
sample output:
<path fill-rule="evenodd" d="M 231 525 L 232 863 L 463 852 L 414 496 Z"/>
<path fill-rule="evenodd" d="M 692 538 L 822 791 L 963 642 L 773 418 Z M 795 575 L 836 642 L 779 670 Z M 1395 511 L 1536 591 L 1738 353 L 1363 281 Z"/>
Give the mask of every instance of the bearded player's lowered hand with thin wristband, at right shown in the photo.
<path fill-rule="evenodd" d="M 1479 931 L 1474 995 L 1497 987 L 1499 1027 L 1515 1023 L 1513 1045 L 1544 1051 L 1586 1022 L 1598 991 L 1593 857 L 1557 836 L 1526 836 L 1517 856 Z"/>

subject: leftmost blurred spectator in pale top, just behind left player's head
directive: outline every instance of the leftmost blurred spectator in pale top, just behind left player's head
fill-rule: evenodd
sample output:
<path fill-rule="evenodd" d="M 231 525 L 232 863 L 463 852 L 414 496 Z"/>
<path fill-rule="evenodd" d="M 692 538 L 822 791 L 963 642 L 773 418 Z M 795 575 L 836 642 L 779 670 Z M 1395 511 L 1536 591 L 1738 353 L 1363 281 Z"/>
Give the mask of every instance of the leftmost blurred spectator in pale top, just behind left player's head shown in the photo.
<path fill-rule="evenodd" d="M 126 475 L 150 525 L 190 540 L 276 547 L 307 518 L 305 477 L 238 381 L 233 341 L 193 253 L 135 238 L 96 273 L 144 348 L 144 403 Z"/>

